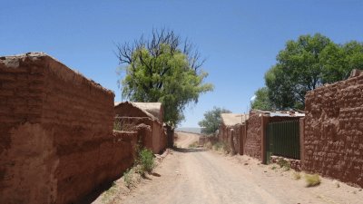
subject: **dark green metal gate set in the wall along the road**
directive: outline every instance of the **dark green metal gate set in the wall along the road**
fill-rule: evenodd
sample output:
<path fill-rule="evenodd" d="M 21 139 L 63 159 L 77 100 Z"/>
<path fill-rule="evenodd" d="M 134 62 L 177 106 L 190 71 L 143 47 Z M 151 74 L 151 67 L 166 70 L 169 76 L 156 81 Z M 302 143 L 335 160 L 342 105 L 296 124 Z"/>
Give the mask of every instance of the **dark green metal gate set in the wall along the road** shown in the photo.
<path fill-rule="evenodd" d="M 282 156 L 300 159 L 299 120 L 270 122 L 266 131 L 266 158 Z"/>

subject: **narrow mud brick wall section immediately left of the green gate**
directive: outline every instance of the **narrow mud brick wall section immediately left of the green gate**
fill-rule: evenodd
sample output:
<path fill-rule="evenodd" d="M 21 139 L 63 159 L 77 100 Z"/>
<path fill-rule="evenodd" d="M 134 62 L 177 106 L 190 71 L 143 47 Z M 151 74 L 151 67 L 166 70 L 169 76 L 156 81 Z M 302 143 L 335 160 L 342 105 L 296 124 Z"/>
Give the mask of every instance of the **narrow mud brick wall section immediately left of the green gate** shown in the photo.
<path fill-rule="evenodd" d="M 262 123 L 260 112 L 250 112 L 250 118 L 247 121 L 248 129 L 244 144 L 244 154 L 261 160 L 261 129 Z"/>

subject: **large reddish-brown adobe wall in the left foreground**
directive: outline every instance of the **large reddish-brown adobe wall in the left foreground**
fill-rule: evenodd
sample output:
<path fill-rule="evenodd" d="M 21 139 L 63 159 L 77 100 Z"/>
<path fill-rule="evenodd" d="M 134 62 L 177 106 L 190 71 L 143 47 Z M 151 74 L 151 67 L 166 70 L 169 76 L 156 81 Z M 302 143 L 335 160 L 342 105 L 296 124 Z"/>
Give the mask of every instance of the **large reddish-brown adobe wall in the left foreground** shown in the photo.
<path fill-rule="evenodd" d="M 44 53 L 0 57 L 0 203 L 70 203 L 132 165 L 113 92 Z"/>

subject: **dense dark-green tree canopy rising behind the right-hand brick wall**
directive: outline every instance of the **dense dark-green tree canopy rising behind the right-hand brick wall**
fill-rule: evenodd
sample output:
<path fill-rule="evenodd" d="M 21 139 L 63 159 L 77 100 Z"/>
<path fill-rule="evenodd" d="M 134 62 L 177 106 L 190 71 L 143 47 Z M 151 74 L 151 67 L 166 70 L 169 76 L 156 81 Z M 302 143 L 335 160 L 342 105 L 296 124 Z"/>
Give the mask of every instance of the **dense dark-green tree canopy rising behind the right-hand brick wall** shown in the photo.
<path fill-rule="evenodd" d="M 270 102 L 280 110 L 303 109 L 307 92 L 347 79 L 353 69 L 363 69 L 362 43 L 335 44 L 321 34 L 301 35 L 287 42 L 265 73 Z"/>

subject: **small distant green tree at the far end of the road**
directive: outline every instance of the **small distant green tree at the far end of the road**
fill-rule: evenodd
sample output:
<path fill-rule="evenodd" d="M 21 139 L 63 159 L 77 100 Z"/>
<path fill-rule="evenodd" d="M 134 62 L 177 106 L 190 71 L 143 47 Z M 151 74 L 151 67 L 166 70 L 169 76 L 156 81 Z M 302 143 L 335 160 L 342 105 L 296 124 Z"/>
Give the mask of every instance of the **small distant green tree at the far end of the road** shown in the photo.
<path fill-rule="evenodd" d="M 229 110 L 213 107 L 211 111 L 204 112 L 204 119 L 199 121 L 201 133 L 213 134 L 221 126 L 221 113 L 231 113 Z"/>

